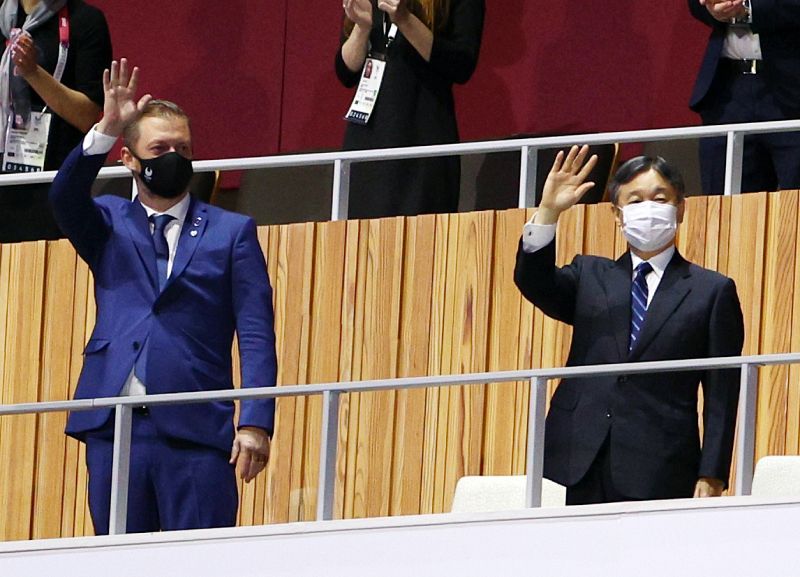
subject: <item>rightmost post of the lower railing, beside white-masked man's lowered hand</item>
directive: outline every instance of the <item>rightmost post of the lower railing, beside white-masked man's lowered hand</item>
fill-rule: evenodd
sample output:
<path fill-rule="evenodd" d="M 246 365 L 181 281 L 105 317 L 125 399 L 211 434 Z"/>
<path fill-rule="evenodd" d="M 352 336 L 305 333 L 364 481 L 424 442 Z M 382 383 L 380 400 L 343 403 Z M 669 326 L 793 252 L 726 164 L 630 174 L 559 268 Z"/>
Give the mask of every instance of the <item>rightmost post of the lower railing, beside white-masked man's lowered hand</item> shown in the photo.
<path fill-rule="evenodd" d="M 736 441 L 736 495 L 749 495 L 753 488 L 755 460 L 756 399 L 758 366 L 744 364 L 739 381 L 738 436 Z"/>

